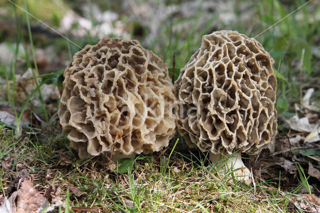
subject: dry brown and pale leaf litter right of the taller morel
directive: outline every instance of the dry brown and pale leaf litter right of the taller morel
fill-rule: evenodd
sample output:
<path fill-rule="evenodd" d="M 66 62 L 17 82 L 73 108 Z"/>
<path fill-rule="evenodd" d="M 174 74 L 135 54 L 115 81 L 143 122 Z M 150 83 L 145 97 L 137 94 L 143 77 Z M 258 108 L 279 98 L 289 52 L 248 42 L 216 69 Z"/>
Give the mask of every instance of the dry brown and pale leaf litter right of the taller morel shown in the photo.
<path fill-rule="evenodd" d="M 302 184 L 296 166 L 296 163 L 300 164 L 302 172 L 307 177 L 311 194 L 303 194 L 307 192 L 303 186 L 296 191 L 302 193 L 300 198 L 292 198 L 291 201 L 301 211 L 319 212 L 320 128 L 318 117 L 320 108 L 310 103 L 313 91 L 313 88 L 307 89 L 301 99 L 301 104 L 295 104 L 296 112 L 293 116 L 282 117 L 289 132 L 279 131 L 280 135 L 275 139 L 274 150 L 269 149 L 258 156 L 250 156 L 249 163 L 251 163 L 255 177 L 260 181 L 281 180 L 282 188 L 286 189 L 294 189 Z"/>

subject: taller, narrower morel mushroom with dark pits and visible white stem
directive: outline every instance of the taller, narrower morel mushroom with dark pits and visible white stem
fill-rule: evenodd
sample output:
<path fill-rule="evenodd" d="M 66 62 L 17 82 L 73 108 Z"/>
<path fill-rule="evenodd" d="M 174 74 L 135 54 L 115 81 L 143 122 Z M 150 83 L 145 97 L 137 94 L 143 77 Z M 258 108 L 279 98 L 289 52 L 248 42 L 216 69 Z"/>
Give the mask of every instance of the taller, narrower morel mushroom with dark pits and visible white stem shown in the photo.
<path fill-rule="evenodd" d="M 210 151 L 212 162 L 227 153 L 224 169 L 239 168 L 237 179 L 247 184 L 240 152 L 257 154 L 277 132 L 273 63 L 254 38 L 216 31 L 202 37 L 175 81 L 179 133 L 189 146 Z"/>

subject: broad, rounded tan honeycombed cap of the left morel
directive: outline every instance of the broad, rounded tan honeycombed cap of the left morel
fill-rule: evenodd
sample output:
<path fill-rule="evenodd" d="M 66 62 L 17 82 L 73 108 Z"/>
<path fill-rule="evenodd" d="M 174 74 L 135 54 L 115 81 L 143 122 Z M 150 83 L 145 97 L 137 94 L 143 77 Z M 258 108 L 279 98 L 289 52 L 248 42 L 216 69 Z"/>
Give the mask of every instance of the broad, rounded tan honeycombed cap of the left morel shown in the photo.
<path fill-rule="evenodd" d="M 80 158 L 158 151 L 173 136 L 176 99 L 166 64 L 137 40 L 86 45 L 64 78 L 58 116 Z"/>

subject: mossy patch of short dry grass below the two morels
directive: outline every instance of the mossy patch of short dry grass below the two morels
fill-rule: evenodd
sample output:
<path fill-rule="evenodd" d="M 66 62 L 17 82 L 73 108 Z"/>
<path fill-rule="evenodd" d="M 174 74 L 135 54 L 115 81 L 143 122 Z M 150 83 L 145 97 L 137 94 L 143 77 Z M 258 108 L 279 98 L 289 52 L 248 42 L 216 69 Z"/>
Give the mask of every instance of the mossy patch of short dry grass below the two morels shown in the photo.
<path fill-rule="evenodd" d="M 117 165 L 106 167 L 105 156 L 80 160 L 69 147 L 57 147 L 58 141 L 66 141 L 63 134 L 52 137 L 50 145 L 40 145 L 34 136 L 14 139 L 8 129 L 2 129 L 0 137 L 6 195 L 14 175 L 26 168 L 40 192 L 57 184 L 62 196 L 70 188 L 70 206 L 101 207 L 102 211 L 286 211 L 292 210 L 298 197 L 257 178 L 254 187 L 221 177 L 214 166 L 208 166 L 205 154 L 192 150 L 193 154 L 182 155 L 181 144 L 169 159 L 170 148 L 128 159 L 133 166 L 120 174 Z"/>

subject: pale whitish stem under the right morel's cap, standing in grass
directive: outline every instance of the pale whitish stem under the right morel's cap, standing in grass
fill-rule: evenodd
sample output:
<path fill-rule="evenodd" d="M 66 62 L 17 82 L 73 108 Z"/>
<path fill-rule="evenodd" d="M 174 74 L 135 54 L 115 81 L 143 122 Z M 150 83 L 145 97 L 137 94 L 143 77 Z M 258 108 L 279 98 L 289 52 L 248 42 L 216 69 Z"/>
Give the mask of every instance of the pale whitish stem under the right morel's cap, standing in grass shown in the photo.
<path fill-rule="evenodd" d="M 236 180 L 243 180 L 245 184 L 251 184 L 251 172 L 250 170 L 243 164 L 241 159 L 241 152 L 235 152 L 231 155 L 224 155 L 221 158 L 221 154 L 214 154 L 210 152 L 209 160 L 214 164 L 219 160 L 223 162 L 222 166 L 218 166 L 219 172 L 221 174 L 227 174 L 229 172 L 233 172 Z"/>

